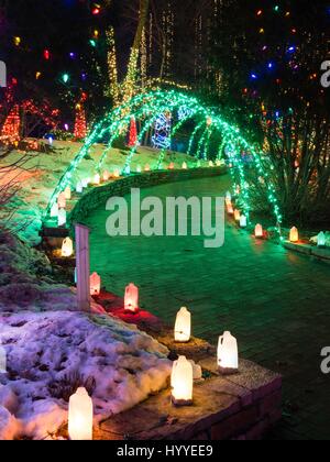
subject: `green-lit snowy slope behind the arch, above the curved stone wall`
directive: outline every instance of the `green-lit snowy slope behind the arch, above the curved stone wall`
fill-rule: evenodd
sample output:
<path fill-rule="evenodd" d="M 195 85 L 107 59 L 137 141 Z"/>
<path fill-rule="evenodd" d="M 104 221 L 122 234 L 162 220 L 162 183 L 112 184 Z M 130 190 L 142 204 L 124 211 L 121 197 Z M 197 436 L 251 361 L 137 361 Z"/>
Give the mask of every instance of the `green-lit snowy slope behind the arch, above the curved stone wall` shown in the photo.
<path fill-rule="evenodd" d="M 19 235 L 21 239 L 33 244 L 40 242 L 38 231 L 42 224 L 42 215 L 45 210 L 48 200 L 69 163 L 75 158 L 81 147 L 81 143 L 75 142 L 54 142 L 53 152 L 50 154 L 29 153 L 30 158 L 24 164 L 24 169 L 21 168 L 19 172 L 14 172 L 12 175 L 20 182 L 21 191 L 12 202 L 12 207 L 16 209 L 14 216 L 14 222 L 20 230 Z M 73 187 L 76 186 L 78 180 L 85 178 L 92 178 L 96 174 L 96 166 L 100 156 L 105 152 L 106 146 L 102 144 L 96 144 L 91 150 L 89 157 L 84 160 L 74 177 Z M 103 165 L 105 170 L 114 172 L 116 169 L 122 170 L 129 152 L 120 150 L 111 150 L 108 158 Z M 23 153 L 13 151 L 9 157 L 3 160 L 3 164 L 18 162 L 22 157 Z M 160 151 L 154 151 L 147 147 L 140 147 L 136 155 L 133 157 L 132 170 L 141 166 L 142 169 L 146 164 L 151 168 L 155 168 L 157 165 Z M 195 165 L 194 158 L 186 154 L 179 153 L 167 153 L 164 160 L 164 167 L 168 166 L 170 162 L 174 162 L 175 167 L 182 167 L 184 162 L 188 165 Z M 8 182 L 9 176 L 0 175 L 1 183 Z"/>

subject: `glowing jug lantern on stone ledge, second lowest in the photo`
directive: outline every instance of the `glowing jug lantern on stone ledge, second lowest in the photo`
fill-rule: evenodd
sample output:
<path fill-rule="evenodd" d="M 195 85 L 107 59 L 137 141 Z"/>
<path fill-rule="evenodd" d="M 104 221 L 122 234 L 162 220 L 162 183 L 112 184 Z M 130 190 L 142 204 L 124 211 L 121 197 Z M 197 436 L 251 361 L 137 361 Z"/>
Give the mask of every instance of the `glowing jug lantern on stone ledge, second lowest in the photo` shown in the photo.
<path fill-rule="evenodd" d="M 172 402 L 175 406 L 189 406 L 193 404 L 194 369 L 186 356 L 179 356 L 173 364 Z"/>

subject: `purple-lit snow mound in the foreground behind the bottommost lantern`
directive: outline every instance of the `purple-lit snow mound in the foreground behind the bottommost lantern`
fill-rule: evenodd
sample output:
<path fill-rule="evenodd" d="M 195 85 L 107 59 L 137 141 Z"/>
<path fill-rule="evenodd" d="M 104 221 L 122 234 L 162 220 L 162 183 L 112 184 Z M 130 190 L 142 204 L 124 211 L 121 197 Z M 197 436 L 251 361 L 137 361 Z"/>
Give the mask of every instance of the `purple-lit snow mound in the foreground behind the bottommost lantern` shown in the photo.
<path fill-rule="evenodd" d="M 46 438 L 67 419 L 67 388 L 95 384 L 96 422 L 164 388 L 168 350 L 136 327 L 78 312 L 0 315 L 8 373 L 0 375 L 0 437 Z M 73 389 L 75 392 L 75 389 Z M 63 395 L 63 396 L 62 396 Z"/>

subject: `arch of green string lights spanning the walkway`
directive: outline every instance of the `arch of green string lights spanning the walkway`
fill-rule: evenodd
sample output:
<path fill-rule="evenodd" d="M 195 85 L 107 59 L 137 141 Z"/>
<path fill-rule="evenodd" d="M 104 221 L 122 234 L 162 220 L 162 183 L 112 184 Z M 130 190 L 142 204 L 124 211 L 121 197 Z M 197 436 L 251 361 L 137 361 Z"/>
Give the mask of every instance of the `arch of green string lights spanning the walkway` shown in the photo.
<path fill-rule="evenodd" d="M 133 117 L 135 120 L 139 120 L 141 122 L 139 140 L 136 145 L 130 150 L 122 170 L 122 175 L 130 175 L 132 158 L 136 153 L 138 146 L 144 140 L 146 132 L 154 125 L 161 113 L 174 113 L 175 111 L 180 112 L 180 118 L 178 118 L 178 122 L 172 128 L 172 136 L 174 136 L 174 134 L 189 120 L 195 122 L 195 128 L 189 140 L 188 154 L 194 156 L 196 161 L 198 161 L 198 158 L 205 161 L 215 160 L 215 156 L 210 156 L 209 153 L 210 141 L 215 134 L 218 136 L 217 140 L 221 140 L 217 150 L 217 160 L 221 160 L 224 155 L 229 158 L 232 166 L 230 172 L 233 184 L 235 189 L 239 190 L 240 206 L 248 219 L 251 213 L 251 194 L 250 185 L 246 180 L 246 164 L 243 162 L 242 154 L 248 153 L 250 155 L 252 166 L 258 177 L 262 178 L 264 187 L 266 188 L 267 198 L 272 205 L 279 230 L 283 218 L 276 198 L 275 187 L 267 173 L 268 169 L 265 168 L 265 162 L 268 162 L 266 156 L 249 144 L 241 135 L 240 130 L 237 127 L 229 124 L 221 114 L 202 106 L 196 98 L 176 90 L 155 90 L 135 96 L 129 102 L 114 109 L 103 120 L 97 123 L 85 140 L 84 146 L 58 182 L 46 209 L 46 217 L 48 217 L 58 195 L 64 191 L 67 186 L 73 186 L 74 173 L 80 162 L 89 155 L 94 144 L 103 140 L 105 136 L 109 138 L 108 145 L 96 165 L 96 173 L 100 174 L 114 141 L 128 130 Z M 196 145 L 195 154 L 193 154 L 194 146 Z M 160 151 L 156 166 L 157 169 L 162 168 L 166 151 L 167 150 Z"/>

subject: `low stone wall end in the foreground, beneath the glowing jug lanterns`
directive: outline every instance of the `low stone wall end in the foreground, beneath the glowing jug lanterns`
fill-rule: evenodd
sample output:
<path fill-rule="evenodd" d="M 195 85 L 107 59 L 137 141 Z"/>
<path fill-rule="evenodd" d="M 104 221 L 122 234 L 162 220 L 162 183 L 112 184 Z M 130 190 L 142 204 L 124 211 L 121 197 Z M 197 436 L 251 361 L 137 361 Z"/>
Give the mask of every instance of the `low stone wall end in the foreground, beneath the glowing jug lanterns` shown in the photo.
<path fill-rule="evenodd" d="M 194 405 L 176 408 L 167 389 L 100 425 L 100 440 L 260 440 L 282 418 L 282 377 L 250 361 L 222 377 L 216 360 L 200 362 L 211 377 L 195 385 Z"/>

